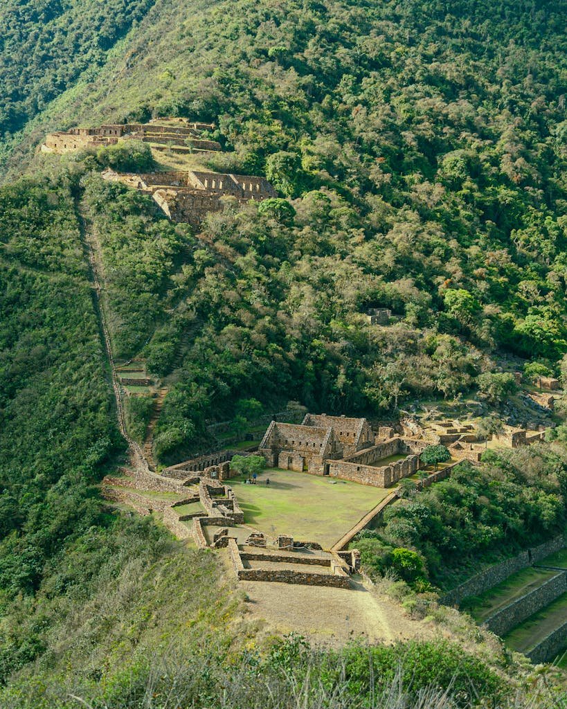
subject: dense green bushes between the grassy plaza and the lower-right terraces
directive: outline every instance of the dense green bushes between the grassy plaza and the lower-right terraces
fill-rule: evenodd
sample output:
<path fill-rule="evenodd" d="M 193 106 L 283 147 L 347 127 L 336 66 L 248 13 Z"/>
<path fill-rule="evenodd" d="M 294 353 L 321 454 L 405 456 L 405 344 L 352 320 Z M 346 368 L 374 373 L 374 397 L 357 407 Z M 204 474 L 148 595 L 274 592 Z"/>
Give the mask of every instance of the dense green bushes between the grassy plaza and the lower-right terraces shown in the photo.
<path fill-rule="evenodd" d="M 562 429 L 561 429 L 562 430 Z M 535 546 L 566 525 L 567 456 L 560 446 L 512 452 L 487 451 L 483 464 L 461 463 L 451 478 L 385 510 L 377 530 L 364 530 L 354 544 L 371 574 L 395 569 L 396 552 L 409 547 L 425 561 L 438 586 L 466 578 L 499 554 Z M 426 573 L 427 573 L 426 572 Z"/>

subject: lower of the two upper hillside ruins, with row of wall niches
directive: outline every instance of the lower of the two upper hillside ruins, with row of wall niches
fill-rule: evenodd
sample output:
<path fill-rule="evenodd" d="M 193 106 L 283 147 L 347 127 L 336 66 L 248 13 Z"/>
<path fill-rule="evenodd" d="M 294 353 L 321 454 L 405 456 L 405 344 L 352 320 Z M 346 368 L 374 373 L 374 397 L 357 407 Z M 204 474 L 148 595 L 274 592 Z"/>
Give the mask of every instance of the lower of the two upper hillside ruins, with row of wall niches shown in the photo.
<path fill-rule="evenodd" d="M 264 177 L 249 175 L 198 170 L 137 174 L 106 169 L 102 177 L 150 194 L 169 219 L 193 226 L 200 225 L 208 212 L 220 211 L 223 198 L 230 197 L 245 204 L 277 196 Z"/>

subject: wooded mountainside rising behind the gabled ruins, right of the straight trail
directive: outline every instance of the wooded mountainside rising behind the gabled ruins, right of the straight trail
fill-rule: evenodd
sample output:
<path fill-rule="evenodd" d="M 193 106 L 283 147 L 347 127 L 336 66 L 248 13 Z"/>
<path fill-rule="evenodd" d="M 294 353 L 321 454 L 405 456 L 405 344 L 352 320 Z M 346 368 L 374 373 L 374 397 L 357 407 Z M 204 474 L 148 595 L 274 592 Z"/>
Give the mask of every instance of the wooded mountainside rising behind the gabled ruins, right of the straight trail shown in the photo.
<path fill-rule="evenodd" d="M 230 21 L 224 3 L 188 11 L 156 4 L 98 86 L 49 113 L 216 121 L 230 152 L 210 165 L 264 172 L 292 200 L 228 207 L 181 257 L 189 236 L 147 201 L 87 186 L 110 234 L 118 351 L 153 334 L 150 367 L 176 370 L 157 430 L 164 460 L 241 396 L 271 408 L 288 391 L 316 410 L 382 415 L 474 384 L 503 401 L 514 386 L 487 376 L 495 350 L 556 371 L 567 350 L 561 5 L 264 2 L 230 4 Z M 391 308 L 393 325 L 369 328 L 369 306 Z"/>

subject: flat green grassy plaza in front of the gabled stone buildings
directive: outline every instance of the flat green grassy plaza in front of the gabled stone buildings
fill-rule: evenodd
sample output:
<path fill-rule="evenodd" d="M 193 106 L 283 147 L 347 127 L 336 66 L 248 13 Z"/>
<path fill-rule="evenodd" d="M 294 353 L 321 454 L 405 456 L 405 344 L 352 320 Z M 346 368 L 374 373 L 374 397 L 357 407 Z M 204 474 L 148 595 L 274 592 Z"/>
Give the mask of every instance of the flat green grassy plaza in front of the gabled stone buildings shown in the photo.
<path fill-rule="evenodd" d="M 270 485 L 265 480 L 269 477 Z M 245 522 L 270 537 L 289 534 L 296 540 L 332 546 L 391 491 L 343 480 L 269 469 L 257 485 L 243 478 L 229 481 Z"/>

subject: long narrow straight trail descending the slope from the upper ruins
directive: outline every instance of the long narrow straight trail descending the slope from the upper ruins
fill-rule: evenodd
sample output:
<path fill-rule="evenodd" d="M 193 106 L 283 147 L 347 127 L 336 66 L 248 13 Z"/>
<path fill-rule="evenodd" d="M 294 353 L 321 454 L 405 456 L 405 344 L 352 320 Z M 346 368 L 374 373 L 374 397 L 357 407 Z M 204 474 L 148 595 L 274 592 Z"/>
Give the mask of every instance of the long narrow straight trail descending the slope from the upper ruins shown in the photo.
<path fill-rule="evenodd" d="M 93 245 L 93 238 L 89 230 L 88 220 L 85 218 L 82 205 L 79 201 L 75 201 L 75 211 L 77 213 L 77 222 L 79 223 L 79 231 L 81 234 L 81 239 L 86 249 L 86 253 L 89 257 L 89 265 L 91 267 L 91 282 L 93 284 L 93 301 L 96 308 L 96 314 L 99 318 L 99 323 L 101 325 L 102 339 L 104 343 L 104 348 L 106 350 L 106 357 L 108 358 L 108 363 L 111 366 L 111 377 L 112 377 L 112 388 L 114 391 L 114 398 L 116 399 L 116 415 L 118 418 L 118 428 L 120 434 L 123 436 L 125 441 L 128 443 L 128 449 L 130 451 L 130 458 L 135 465 L 136 470 L 140 470 L 143 473 L 149 473 L 149 465 L 147 459 L 145 458 L 144 452 L 140 445 L 133 440 L 133 438 L 128 435 L 126 430 L 124 407 L 122 403 L 122 396 L 120 394 L 120 381 L 118 379 L 118 374 L 116 372 L 116 363 L 112 355 L 111 338 L 108 335 L 108 326 L 106 325 L 106 316 L 104 315 L 104 308 L 101 302 L 101 279 L 99 278 L 99 264 L 96 261 L 95 248 Z"/>

